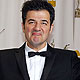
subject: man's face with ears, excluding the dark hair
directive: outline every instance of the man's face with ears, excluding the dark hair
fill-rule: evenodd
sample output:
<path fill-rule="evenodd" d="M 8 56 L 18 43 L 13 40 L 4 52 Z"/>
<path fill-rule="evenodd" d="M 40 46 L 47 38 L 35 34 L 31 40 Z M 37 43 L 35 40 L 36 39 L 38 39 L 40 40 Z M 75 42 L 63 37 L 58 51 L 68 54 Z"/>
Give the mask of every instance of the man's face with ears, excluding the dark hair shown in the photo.
<path fill-rule="evenodd" d="M 28 45 L 31 48 L 40 45 L 44 47 L 52 27 L 50 28 L 50 14 L 47 10 L 28 11 L 23 25 Z"/>

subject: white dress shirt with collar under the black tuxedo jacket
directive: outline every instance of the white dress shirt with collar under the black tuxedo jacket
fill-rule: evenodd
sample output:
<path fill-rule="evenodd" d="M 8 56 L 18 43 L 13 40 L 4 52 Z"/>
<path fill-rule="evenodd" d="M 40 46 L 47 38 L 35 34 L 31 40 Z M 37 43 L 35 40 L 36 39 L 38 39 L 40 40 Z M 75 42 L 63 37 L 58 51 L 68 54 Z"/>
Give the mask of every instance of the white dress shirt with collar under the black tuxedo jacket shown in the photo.
<path fill-rule="evenodd" d="M 43 49 L 39 50 L 38 52 L 42 52 L 46 50 L 47 50 L 47 44 Z M 26 44 L 25 55 L 26 55 L 26 64 L 27 64 L 27 70 L 28 70 L 30 80 L 40 80 L 45 64 L 45 57 L 36 55 L 34 57 L 29 58 L 28 52 L 30 51 L 36 52 L 35 50 L 28 47 Z"/>

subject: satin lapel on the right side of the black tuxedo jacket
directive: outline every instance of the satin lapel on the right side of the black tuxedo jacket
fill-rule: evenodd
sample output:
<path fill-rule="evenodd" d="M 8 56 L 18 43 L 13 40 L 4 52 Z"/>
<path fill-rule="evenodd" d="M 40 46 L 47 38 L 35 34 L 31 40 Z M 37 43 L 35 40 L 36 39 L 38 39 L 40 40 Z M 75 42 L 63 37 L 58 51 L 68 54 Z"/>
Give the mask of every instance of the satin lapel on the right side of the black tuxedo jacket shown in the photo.
<path fill-rule="evenodd" d="M 49 57 L 46 57 L 41 80 L 47 80 L 47 77 L 49 75 L 49 72 L 52 69 L 52 65 L 54 63 L 55 52 L 54 52 L 54 49 L 51 50 L 51 47 L 50 46 L 48 46 L 48 54 L 50 56 Z"/>

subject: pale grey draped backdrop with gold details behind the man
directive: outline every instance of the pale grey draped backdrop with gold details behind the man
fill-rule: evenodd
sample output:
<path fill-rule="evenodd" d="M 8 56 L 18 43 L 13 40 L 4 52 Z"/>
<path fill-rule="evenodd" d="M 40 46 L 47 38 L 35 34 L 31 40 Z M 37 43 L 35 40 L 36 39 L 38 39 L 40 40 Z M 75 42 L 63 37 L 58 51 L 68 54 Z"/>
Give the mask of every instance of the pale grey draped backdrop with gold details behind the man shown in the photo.
<path fill-rule="evenodd" d="M 0 0 L 0 50 L 25 42 L 21 8 L 27 0 Z M 51 46 L 80 51 L 80 0 L 47 0 L 55 8 Z"/>

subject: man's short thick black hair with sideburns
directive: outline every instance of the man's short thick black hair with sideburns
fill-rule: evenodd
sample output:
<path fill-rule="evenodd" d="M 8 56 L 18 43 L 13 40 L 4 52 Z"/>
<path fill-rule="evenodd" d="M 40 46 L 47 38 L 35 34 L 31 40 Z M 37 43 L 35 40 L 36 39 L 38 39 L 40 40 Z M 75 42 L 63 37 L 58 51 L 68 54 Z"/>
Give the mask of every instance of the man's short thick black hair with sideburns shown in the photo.
<path fill-rule="evenodd" d="M 53 6 L 48 3 L 46 0 L 32 0 L 26 1 L 22 7 L 22 20 L 23 24 L 25 24 L 25 19 L 28 11 L 31 10 L 47 10 L 50 14 L 50 25 L 53 23 L 55 18 L 55 11 Z"/>

